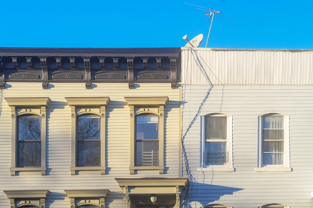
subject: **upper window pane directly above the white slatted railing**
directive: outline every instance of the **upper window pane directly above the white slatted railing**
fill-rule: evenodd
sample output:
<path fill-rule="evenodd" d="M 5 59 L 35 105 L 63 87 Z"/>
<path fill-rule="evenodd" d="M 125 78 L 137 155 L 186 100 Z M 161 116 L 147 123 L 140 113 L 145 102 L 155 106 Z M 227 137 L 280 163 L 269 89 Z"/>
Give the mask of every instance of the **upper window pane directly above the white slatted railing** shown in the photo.
<path fill-rule="evenodd" d="M 136 116 L 136 139 L 158 139 L 157 115 L 138 115 Z"/>

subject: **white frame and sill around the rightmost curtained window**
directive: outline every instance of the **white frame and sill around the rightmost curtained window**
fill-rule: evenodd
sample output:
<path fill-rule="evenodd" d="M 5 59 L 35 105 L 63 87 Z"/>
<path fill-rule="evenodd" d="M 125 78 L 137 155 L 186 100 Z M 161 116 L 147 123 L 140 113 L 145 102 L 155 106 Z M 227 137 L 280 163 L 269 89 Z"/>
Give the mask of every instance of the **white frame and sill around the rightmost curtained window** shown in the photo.
<path fill-rule="evenodd" d="M 263 117 L 267 115 L 280 115 L 283 116 L 284 127 L 284 162 L 282 165 L 263 165 Z M 268 113 L 258 116 L 258 164 L 255 171 L 291 171 L 290 168 L 290 151 L 289 151 L 289 116 L 280 113 Z"/>

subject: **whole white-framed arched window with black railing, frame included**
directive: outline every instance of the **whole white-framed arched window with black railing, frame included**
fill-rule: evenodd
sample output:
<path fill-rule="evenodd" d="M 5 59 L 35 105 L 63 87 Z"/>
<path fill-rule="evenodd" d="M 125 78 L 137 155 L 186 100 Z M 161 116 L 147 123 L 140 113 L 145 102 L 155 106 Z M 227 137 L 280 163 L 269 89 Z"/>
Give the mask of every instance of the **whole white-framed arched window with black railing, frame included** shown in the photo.
<path fill-rule="evenodd" d="M 225 114 L 208 114 L 202 120 L 201 170 L 215 167 L 216 170 L 233 171 L 232 168 L 232 134 L 231 116 Z M 223 168 L 216 168 L 223 167 Z M 208 170 L 211 170 L 208 169 Z"/>

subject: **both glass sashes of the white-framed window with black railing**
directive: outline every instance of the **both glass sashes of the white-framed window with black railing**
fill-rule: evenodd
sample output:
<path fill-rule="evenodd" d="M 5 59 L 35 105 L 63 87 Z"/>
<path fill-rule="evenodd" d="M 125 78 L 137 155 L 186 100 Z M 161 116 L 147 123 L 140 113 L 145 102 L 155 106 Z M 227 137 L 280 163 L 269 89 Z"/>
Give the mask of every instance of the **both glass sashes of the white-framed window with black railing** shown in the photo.
<path fill-rule="evenodd" d="M 203 152 L 205 166 L 226 165 L 227 152 L 227 117 L 205 117 L 205 142 Z"/>

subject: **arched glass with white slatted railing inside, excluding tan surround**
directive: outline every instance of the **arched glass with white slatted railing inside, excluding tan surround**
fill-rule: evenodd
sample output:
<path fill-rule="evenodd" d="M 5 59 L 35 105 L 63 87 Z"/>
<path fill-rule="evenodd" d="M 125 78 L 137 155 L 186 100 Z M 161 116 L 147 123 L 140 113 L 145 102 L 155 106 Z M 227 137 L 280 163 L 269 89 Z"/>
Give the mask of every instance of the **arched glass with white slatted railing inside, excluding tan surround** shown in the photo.
<path fill-rule="evenodd" d="M 159 165 L 159 116 L 136 116 L 136 166 Z"/>

